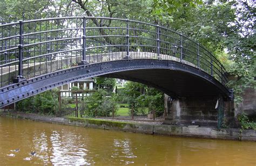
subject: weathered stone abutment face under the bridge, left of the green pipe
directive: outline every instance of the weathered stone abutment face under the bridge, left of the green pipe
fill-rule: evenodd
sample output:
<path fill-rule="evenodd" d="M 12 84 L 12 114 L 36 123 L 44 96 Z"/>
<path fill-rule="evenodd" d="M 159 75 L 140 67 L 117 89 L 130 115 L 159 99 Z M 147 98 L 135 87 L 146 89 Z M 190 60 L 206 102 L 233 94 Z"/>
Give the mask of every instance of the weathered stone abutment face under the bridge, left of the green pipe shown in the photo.
<path fill-rule="evenodd" d="M 217 126 L 217 98 L 181 98 L 168 103 L 164 124 Z"/>

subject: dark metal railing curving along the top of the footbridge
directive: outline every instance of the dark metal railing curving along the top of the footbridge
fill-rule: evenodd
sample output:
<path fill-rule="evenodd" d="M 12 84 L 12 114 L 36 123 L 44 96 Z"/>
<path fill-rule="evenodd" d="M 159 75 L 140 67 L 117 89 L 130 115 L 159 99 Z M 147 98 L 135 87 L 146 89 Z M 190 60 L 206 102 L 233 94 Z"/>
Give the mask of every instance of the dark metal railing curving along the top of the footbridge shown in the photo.
<path fill-rule="evenodd" d="M 0 23 L 1 87 L 77 65 L 131 58 L 179 61 L 227 83 L 225 68 L 205 47 L 159 25 L 106 17 Z"/>

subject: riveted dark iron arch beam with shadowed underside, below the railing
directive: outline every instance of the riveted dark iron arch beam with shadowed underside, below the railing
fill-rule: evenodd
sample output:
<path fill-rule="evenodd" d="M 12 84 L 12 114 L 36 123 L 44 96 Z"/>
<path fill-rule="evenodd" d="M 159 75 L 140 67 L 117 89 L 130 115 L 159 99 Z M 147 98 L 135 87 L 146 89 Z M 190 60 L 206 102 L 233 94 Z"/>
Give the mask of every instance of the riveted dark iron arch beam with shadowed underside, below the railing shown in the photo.
<path fill-rule="evenodd" d="M 122 78 L 153 86 L 172 97 L 228 98 L 228 90 L 204 71 L 169 60 L 128 59 L 86 64 L 41 75 L 0 89 L 0 107 L 81 78 Z"/>

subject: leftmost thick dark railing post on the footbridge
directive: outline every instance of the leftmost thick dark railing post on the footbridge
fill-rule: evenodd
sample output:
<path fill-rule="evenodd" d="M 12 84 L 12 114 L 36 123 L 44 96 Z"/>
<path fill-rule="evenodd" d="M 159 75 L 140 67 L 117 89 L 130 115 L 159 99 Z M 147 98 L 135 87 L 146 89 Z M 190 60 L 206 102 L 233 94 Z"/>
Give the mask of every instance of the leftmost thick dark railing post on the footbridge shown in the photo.
<path fill-rule="evenodd" d="M 18 76 L 14 79 L 14 83 L 22 82 L 25 78 L 22 76 L 23 74 L 23 20 L 19 20 L 19 64 L 18 64 Z"/>

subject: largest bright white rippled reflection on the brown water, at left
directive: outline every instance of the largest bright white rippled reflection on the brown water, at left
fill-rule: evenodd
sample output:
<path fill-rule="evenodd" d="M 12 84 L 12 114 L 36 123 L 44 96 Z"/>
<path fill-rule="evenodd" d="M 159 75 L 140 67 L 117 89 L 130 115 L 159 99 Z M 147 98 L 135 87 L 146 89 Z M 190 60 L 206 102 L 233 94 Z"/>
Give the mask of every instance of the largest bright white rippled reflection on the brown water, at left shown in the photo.
<path fill-rule="evenodd" d="M 87 150 L 81 148 L 84 145 L 74 144 L 79 142 L 80 139 L 81 136 L 77 136 L 72 132 L 51 131 L 49 136 L 46 136 L 45 132 L 35 132 L 33 135 L 33 150 L 36 151 L 35 157 L 43 161 L 44 164 L 88 165 L 89 163 L 84 157 Z M 49 154 L 51 155 L 49 156 Z M 29 158 L 26 159 L 28 160 Z"/>

